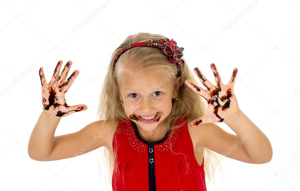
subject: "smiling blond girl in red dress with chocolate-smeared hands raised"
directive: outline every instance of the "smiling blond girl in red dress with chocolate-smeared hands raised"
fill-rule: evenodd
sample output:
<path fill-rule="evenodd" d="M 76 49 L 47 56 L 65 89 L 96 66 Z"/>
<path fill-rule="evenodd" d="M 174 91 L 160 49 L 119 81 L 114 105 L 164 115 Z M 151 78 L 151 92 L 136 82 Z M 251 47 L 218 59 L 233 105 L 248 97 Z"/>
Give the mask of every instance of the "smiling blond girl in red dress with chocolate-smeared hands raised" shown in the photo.
<path fill-rule="evenodd" d="M 210 160 L 213 151 L 247 163 L 269 162 L 268 138 L 238 107 L 233 91 L 237 68 L 223 84 L 211 64 L 216 85 L 194 68 L 205 90 L 197 86 L 183 50 L 163 35 L 128 36 L 111 57 L 99 120 L 56 137 L 61 117 L 87 109 L 68 106 L 64 98 L 79 71 L 66 80 L 72 62 L 59 75 L 59 61 L 47 83 L 40 68 L 44 110 L 29 140 L 29 156 L 51 161 L 104 146 L 114 191 L 206 190 L 205 171 L 209 175 L 215 165 Z M 220 128 L 220 122 L 236 135 Z"/>

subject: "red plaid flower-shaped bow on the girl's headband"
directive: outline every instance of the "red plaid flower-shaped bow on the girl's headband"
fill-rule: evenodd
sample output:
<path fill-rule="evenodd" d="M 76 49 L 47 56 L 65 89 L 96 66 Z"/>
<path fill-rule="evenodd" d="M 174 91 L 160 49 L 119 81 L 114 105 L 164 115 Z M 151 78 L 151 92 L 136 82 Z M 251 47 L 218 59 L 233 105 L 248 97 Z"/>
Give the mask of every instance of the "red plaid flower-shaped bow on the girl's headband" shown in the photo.
<path fill-rule="evenodd" d="M 178 47 L 173 38 L 171 41 L 169 38 L 162 38 L 160 40 L 150 39 L 149 42 L 152 46 L 161 48 L 161 53 L 167 56 L 171 64 L 176 64 L 179 70 L 184 67 L 184 59 L 181 59 L 184 48 Z"/>

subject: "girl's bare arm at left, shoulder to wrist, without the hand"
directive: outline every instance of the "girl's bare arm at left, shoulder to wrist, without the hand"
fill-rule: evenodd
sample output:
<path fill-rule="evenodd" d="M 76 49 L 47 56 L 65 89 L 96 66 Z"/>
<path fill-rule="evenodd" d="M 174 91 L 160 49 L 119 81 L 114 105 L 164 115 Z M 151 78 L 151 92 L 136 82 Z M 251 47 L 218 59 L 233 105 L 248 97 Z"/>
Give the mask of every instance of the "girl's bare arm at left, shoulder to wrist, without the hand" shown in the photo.
<path fill-rule="evenodd" d="M 43 111 L 29 139 L 28 154 L 38 161 L 71 158 L 108 145 L 111 122 L 95 121 L 78 132 L 54 137 L 60 118 Z M 106 133 L 105 133 L 106 132 Z"/>

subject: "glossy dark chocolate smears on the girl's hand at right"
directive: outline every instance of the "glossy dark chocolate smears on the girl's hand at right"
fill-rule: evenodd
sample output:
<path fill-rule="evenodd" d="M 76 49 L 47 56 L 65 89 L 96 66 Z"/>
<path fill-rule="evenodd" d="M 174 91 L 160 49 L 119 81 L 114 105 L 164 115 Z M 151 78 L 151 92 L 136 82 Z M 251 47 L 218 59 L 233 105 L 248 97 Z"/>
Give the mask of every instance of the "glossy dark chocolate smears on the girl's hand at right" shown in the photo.
<path fill-rule="evenodd" d="M 211 64 L 211 68 L 212 68 L 212 70 L 214 71 L 214 72 L 213 72 L 213 73 L 214 73 L 214 76 L 215 76 L 215 77 L 219 77 L 219 74 L 218 74 L 218 72 L 217 72 L 217 70 L 216 70 L 215 64 Z M 194 68 L 194 70 L 196 70 L 198 77 L 199 77 L 200 79 L 203 80 L 203 85 L 204 85 L 208 90 L 210 90 L 210 88 L 204 83 L 204 82 L 206 81 L 206 78 L 204 78 L 204 77 L 202 76 L 202 74 L 200 73 L 199 69 L 198 69 L 198 68 Z M 232 80 L 230 81 L 230 83 L 233 83 L 233 81 L 234 81 L 234 79 L 235 79 L 235 77 L 236 77 L 236 74 L 237 74 L 237 68 L 234 68 L 233 73 L 232 73 L 232 77 L 233 77 L 233 78 L 232 78 Z M 211 97 L 211 98 L 210 98 L 209 100 L 207 100 L 207 102 L 208 102 L 208 104 L 213 105 L 213 107 L 214 107 L 214 112 L 213 112 L 213 113 L 214 113 L 214 115 L 215 115 L 217 118 L 220 119 L 219 122 L 223 122 L 224 119 L 218 115 L 218 110 L 219 110 L 220 107 L 221 107 L 222 111 L 225 111 L 226 109 L 229 108 L 229 105 L 230 105 L 230 99 L 229 99 L 229 98 L 232 97 L 232 91 L 231 91 L 231 88 L 229 88 L 229 89 L 227 89 L 227 91 L 226 91 L 226 95 L 224 95 L 224 96 L 222 96 L 222 97 L 219 97 L 219 92 L 221 91 L 221 87 L 220 87 L 220 79 L 217 78 L 216 82 L 217 82 L 217 86 L 215 86 L 216 88 L 215 88 L 214 90 L 210 90 L 210 97 Z M 194 84 L 192 84 L 192 85 L 197 89 L 198 92 L 200 91 L 200 89 L 199 89 L 198 86 L 196 86 L 196 85 L 194 85 Z M 220 103 L 219 103 L 219 101 L 218 101 L 218 98 L 220 98 L 220 100 L 221 100 L 222 102 L 225 102 L 225 101 L 226 101 L 226 103 L 225 103 L 223 106 L 221 106 Z M 197 125 L 199 125 L 200 123 L 202 123 L 202 120 L 196 120 L 196 121 L 194 121 L 193 126 L 197 126 Z"/>

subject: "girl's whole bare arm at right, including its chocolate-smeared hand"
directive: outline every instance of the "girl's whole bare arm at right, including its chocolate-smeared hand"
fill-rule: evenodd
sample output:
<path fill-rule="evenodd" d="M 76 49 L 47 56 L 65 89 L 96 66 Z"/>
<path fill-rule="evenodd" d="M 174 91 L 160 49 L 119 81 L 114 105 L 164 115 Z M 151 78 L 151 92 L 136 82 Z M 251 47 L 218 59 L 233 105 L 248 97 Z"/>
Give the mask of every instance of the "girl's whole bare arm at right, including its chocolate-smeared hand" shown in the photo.
<path fill-rule="evenodd" d="M 217 86 L 207 80 L 198 67 L 194 68 L 194 71 L 208 90 L 202 89 L 190 80 L 185 81 L 187 86 L 208 103 L 207 113 L 190 123 L 191 126 L 200 124 L 199 127 L 193 127 L 199 128 L 196 132 L 200 136 L 199 144 L 243 162 L 255 164 L 269 162 L 272 159 L 270 141 L 238 107 L 233 91 L 238 69 L 234 68 L 229 82 L 223 84 L 216 65 L 212 63 L 210 67 Z M 214 124 L 219 122 L 226 123 L 236 135 Z"/>

